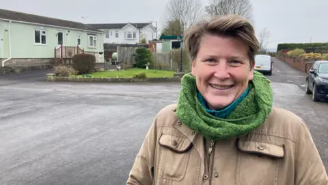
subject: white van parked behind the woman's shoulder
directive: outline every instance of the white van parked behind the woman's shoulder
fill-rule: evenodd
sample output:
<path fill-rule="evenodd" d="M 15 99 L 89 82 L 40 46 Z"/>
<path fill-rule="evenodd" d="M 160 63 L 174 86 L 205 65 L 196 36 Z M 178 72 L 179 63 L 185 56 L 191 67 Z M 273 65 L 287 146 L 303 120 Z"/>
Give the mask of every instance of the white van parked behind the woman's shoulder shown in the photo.
<path fill-rule="evenodd" d="M 267 75 L 272 75 L 272 64 L 271 56 L 256 55 L 254 70 Z"/>

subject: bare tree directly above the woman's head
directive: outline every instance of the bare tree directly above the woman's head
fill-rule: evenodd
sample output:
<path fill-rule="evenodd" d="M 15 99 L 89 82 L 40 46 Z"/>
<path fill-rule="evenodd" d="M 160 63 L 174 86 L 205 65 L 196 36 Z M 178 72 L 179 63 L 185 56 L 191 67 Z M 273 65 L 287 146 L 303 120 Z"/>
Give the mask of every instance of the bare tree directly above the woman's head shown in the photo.
<path fill-rule="evenodd" d="M 249 0 L 209 0 L 209 5 L 205 7 L 206 13 L 210 16 L 223 16 L 228 14 L 238 14 L 253 21 L 253 7 Z"/>

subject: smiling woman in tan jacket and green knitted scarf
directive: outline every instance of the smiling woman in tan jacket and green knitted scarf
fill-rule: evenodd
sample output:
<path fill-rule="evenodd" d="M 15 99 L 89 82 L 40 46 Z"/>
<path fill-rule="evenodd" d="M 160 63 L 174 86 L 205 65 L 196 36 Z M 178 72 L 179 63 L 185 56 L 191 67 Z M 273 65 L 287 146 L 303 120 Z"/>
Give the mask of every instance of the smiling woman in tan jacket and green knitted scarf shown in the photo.
<path fill-rule="evenodd" d="M 178 104 L 159 112 L 127 184 L 328 184 L 308 127 L 273 106 L 253 70 L 259 43 L 240 16 L 189 28 Z"/>

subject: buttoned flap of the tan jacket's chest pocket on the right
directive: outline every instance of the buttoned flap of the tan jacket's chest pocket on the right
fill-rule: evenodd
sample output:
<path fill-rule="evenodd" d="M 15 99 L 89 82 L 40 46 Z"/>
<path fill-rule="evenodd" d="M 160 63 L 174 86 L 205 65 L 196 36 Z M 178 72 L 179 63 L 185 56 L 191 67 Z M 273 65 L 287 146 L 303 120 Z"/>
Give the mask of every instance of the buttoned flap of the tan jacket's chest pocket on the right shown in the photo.
<path fill-rule="evenodd" d="M 271 143 L 239 141 L 238 148 L 247 153 L 257 153 L 273 158 L 284 158 L 284 147 Z"/>

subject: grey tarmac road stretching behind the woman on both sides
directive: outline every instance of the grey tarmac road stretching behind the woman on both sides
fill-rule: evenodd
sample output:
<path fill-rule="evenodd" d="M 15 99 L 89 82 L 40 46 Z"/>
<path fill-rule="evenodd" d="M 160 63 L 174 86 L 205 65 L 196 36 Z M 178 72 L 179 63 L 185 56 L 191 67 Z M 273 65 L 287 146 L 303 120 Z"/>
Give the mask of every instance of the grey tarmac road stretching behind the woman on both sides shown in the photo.
<path fill-rule="evenodd" d="M 0 77 L 0 184 L 125 184 L 152 119 L 180 90 L 34 75 Z M 328 103 L 305 95 L 300 76 L 275 60 L 274 104 L 306 121 L 328 169 Z"/>

